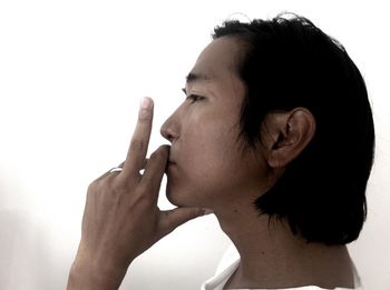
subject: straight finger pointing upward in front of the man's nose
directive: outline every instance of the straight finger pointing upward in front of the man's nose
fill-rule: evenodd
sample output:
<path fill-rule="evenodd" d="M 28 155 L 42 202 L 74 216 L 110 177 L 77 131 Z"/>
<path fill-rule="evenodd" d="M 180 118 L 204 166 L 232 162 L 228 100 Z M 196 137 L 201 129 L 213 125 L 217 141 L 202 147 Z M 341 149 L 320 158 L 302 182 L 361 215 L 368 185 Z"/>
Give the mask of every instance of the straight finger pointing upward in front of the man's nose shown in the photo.
<path fill-rule="evenodd" d="M 143 98 L 138 112 L 138 121 L 133 133 L 130 146 L 124 164 L 124 176 L 139 174 L 149 144 L 153 121 L 153 100 Z"/>

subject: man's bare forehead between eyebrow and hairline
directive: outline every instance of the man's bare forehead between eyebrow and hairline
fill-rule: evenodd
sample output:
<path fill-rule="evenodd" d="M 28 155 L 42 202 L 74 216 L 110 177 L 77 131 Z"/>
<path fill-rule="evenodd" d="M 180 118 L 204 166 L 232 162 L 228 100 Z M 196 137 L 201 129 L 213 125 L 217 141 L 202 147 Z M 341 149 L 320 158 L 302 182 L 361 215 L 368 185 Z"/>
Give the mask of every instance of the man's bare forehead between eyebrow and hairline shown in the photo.
<path fill-rule="evenodd" d="M 213 40 L 199 54 L 192 73 L 209 79 L 224 78 L 236 71 L 238 41 L 222 37 Z"/>

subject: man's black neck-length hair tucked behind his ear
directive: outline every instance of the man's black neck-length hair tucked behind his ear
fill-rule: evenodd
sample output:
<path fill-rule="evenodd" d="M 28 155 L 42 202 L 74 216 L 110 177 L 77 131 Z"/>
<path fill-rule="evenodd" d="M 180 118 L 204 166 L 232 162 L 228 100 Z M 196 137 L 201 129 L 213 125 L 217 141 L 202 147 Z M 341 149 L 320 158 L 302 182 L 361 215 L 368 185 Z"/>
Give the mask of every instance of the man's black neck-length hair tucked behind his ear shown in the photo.
<path fill-rule="evenodd" d="M 272 111 L 304 107 L 315 133 L 283 176 L 254 204 L 262 214 L 285 219 L 309 242 L 355 240 L 367 216 L 365 187 L 373 163 L 374 128 L 364 80 L 339 41 L 296 14 L 243 23 L 230 20 L 213 39 L 243 44 L 237 73 L 246 86 L 241 136 L 261 143 Z"/>

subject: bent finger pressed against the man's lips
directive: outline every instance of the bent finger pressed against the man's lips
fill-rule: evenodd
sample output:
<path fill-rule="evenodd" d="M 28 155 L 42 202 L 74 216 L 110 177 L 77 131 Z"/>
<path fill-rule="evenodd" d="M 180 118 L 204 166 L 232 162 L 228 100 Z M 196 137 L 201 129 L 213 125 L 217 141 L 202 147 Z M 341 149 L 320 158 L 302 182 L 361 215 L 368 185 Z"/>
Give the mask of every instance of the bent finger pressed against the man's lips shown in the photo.
<path fill-rule="evenodd" d="M 155 193 L 156 199 L 158 197 L 158 190 L 162 183 L 162 179 L 165 172 L 166 163 L 169 157 L 169 146 L 160 146 L 155 152 L 152 153 L 140 183 L 146 187 L 152 187 L 152 192 Z"/>

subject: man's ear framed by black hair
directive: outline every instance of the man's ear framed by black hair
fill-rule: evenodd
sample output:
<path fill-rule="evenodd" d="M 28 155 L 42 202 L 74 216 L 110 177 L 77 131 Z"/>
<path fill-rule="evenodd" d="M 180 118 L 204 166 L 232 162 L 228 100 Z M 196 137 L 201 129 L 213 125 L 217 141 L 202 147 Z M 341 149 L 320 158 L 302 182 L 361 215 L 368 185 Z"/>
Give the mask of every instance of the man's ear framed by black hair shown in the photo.
<path fill-rule="evenodd" d="M 262 141 L 271 168 L 282 168 L 294 160 L 312 140 L 315 119 L 305 108 L 270 113 L 263 123 Z"/>

